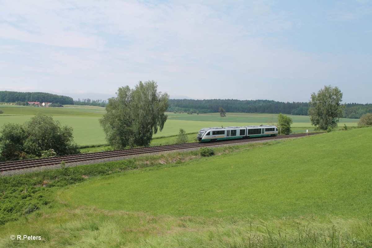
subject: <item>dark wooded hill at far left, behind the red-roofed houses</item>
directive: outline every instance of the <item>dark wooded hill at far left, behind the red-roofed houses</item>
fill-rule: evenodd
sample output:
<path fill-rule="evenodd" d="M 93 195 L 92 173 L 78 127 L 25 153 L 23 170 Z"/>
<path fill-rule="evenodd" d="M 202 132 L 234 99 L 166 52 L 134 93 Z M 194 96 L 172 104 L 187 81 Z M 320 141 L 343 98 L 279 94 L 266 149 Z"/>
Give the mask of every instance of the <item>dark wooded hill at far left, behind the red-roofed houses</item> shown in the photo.
<path fill-rule="evenodd" d="M 17 91 L 0 91 L 0 102 L 15 103 L 15 102 L 48 102 L 74 104 L 74 100 L 69 96 L 59 96 L 44 92 L 17 92 Z"/>

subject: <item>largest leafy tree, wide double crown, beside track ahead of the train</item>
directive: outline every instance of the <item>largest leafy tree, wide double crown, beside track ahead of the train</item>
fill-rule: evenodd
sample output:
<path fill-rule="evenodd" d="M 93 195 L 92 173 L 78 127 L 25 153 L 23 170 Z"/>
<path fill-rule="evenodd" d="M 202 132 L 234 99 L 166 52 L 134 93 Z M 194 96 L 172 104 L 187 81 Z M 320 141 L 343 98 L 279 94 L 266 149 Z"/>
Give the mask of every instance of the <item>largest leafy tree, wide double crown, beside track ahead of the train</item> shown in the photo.
<path fill-rule="evenodd" d="M 100 119 L 108 143 L 114 149 L 150 145 L 153 134 L 164 128 L 168 100 L 169 95 L 158 92 L 153 80 L 140 81 L 133 89 L 120 87 Z"/>

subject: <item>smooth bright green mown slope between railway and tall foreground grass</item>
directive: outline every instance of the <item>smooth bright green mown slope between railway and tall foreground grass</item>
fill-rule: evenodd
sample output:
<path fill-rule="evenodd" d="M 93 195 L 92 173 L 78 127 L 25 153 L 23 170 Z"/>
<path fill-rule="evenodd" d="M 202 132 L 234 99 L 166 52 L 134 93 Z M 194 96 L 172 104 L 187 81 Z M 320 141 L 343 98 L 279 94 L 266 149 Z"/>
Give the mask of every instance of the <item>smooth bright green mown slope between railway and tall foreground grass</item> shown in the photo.
<path fill-rule="evenodd" d="M 366 152 L 371 131 L 329 133 L 180 168 L 99 178 L 62 198 L 151 215 L 366 216 L 372 202 Z"/>

